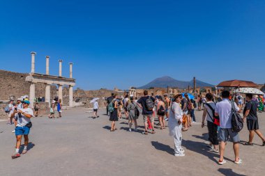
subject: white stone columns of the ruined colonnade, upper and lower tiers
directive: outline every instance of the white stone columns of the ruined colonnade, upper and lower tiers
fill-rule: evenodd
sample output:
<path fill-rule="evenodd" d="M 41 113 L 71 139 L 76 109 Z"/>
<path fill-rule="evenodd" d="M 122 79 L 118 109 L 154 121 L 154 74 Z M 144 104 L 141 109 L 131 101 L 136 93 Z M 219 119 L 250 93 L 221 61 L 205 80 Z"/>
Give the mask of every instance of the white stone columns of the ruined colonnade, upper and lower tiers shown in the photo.
<path fill-rule="evenodd" d="M 31 52 L 31 73 L 35 72 L 35 56 L 36 52 Z M 50 75 L 50 56 L 46 56 L 46 74 Z M 59 60 L 59 77 L 62 76 L 62 60 Z M 70 78 L 73 78 L 73 63 L 70 64 Z M 36 83 L 31 82 L 30 86 L 30 92 L 29 92 L 29 100 L 31 102 L 34 102 L 35 98 L 35 85 Z M 45 83 L 45 102 L 51 103 L 51 84 L 50 83 Z M 61 103 L 63 104 L 63 85 L 58 84 L 58 97 L 61 99 Z M 31 106 L 33 107 L 33 103 L 31 103 Z M 69 86 L 69 106 L 73 106 L 73 86 Z"/>

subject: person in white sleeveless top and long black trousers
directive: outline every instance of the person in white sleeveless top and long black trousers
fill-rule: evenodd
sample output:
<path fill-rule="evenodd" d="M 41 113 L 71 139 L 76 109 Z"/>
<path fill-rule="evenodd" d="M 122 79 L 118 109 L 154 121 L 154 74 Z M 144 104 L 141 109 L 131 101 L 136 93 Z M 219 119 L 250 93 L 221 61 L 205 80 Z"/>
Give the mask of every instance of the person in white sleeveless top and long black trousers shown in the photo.
<path fill-rule="evenodd" d="M 202 128 L 205 126 L 204 121 L 207 120 L 208 134 L 209 134 L 209 147 L 211 152 L 219 153 L 218 150 L 218 126 L 213 123 L 213 114 L 215 113 L 215 102 L 212 101 L 213 95 L 211 93 L 206 94 L 206 104 L 204 106 L 204 113 L 202 115 Z"/>

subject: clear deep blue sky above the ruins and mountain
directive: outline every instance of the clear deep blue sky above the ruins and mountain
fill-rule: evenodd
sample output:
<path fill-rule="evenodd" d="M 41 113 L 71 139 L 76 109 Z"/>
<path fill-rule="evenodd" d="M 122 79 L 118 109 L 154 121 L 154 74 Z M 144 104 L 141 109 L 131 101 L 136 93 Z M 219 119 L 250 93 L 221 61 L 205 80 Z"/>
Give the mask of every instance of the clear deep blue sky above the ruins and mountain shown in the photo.
<path fill-rule="evenodd" d="M 0 69 L 73 77 L 86 90 L 157 77 L 264 83 L 265 1 L 1 1 Z M 262 67 L 261 67 L 262 66 Z"/>

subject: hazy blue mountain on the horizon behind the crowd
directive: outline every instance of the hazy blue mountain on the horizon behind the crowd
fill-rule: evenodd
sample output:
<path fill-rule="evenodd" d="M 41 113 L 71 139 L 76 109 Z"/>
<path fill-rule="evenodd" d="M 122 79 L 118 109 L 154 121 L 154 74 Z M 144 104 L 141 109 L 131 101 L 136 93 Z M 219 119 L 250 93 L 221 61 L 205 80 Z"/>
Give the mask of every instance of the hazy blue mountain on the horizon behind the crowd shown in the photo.
<path fill-rule="evenodd" d="M 172 77 L 166 76 L 154 79 L 150 83 L 147 83 L 146 85 L 141 86 L 139 88 L 167 88 L 167 86 L 176 88 L 188 88 L 188 86 L 190 86 L 190 88 L 193 88 L 193 80 L 178 81 L 176 79 L 173 79 Z M 196 79 L 196 87 L 213 87 L 213 85 Z"/>

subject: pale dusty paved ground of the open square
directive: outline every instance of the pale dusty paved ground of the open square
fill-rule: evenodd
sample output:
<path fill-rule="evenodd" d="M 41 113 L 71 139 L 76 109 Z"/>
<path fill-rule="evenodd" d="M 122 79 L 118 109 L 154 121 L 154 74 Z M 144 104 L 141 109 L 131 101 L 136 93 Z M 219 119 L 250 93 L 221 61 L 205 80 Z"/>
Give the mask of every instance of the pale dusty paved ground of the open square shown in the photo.
<path fill-rule="evenodd" d="M 109 132 L 104 109 L 94 120 L 85 111 L 66 110 L 61 119 L 34 118 L 30 150 L 18 159 L 10 157 L 15 150 L 13 127 L 0 122 L 0 175 L 263 175 L 265 147 L 260 146 L 257 136 L 257 145 L 240 145 L 242 165 L 232 162 L 232 143 L 228 143 L 228 162 L 218 166 L 218 155 L 206 148 L 206 128 L 200 125 L 183 133 L 186 156 L 174 157 L 173 139 L 167 129 L 144 136 L 141 131 L 128 132 L 126 120 L 121 120 L 117 122 L 119 130 Z M 202 112 L 195 114 L 201 122 Z M 265 113 L 259 114 L 262 131 L 264 118 Z M 245 129 L 241 140 L 248 140 Z"/>

